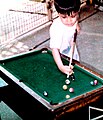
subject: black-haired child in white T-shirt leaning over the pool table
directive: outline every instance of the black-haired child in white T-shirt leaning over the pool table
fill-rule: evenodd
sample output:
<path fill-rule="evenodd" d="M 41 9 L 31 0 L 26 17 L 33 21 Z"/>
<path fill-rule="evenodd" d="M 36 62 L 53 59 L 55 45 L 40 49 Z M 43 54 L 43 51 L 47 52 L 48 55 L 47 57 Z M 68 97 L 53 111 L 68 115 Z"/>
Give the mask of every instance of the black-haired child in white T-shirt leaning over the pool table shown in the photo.
<path fill-rule="evenodd" d="M 80 0 L 54 0 L 54 6 L 59 17 L 50 27 L 50 48 L 59 70 L 65 74 L 73 73 L 73 66 L 63 65 L 61 54 L 70 57 L 75 29 L 78 25 Z M 73 59 L 79 61 L 79 54 L 75 46 Z"/>

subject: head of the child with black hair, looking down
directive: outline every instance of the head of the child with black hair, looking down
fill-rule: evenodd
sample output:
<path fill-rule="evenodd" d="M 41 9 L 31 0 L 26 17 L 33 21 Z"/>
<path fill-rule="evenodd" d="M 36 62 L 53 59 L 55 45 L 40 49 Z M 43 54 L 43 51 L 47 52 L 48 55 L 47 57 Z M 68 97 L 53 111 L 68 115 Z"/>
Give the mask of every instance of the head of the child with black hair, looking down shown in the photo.
<path fill-rule="evenodd" d="M 54 0 L 54 6 L 63 24 L 69 26 L 75 24 L 80 10 L 80 0 Z"/>

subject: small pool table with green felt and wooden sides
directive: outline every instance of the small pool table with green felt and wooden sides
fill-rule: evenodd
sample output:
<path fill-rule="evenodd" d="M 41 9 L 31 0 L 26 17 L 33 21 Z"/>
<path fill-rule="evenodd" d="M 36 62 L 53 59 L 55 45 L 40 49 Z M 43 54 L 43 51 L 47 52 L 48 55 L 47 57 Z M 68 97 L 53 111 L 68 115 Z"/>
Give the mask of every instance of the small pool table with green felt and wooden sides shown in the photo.
<path fill-rule="evenodd" d="M 69 64 L 65 57 L 62 60 L 64 64 Z M 28 99 L 35 101 L 31 102 L 31 106 L 36 103 L 33 106 L 36 110 L 41 106 L 40 113 L 43 112 L 47 120 L 48 117 L 59 119 L 67 112 L 84 107 L 99 99 L 103 93 L 101 76 L 78 62 L 74 64 L 73 70 L 74 80 L 68 78 L 70 84 L 64 90 L 67 76 L 58 70 L 48 48 L 32 50 L 0 61 L 1 78 L 8 86 L 15 86 L 14 91 L 18 88 L 15 94 L 22 94 L 21 91 L 28 94 Z M 98 81 L 96 85 L 91 84 L 94 80 Z M 69 88 L 73 88 L 74 92 L 70 92 Z"/>

